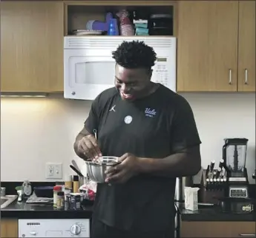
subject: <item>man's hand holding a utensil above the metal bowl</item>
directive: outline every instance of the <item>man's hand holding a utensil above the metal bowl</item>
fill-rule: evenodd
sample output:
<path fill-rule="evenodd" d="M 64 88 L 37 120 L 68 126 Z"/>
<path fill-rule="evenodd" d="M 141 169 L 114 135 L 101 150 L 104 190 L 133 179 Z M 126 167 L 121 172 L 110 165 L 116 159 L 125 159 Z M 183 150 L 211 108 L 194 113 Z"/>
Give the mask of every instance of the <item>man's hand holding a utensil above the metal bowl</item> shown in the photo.
<path fill-rule="evenodd" d="M 84 154 L 88 160 L 97 159 L 102 156 L 98 142 L 93 135 L 85 135 L 77 143 L 79 154 Z"/>

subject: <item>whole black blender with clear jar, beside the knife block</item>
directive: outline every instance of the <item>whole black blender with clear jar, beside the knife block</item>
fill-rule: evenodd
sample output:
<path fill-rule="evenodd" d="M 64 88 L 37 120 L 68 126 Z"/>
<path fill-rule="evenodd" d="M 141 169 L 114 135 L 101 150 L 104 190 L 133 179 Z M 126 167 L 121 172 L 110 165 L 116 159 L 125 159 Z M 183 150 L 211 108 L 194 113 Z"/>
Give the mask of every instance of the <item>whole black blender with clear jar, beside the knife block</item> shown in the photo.
<path fill-rule="evenodd" d="M 249 197 L 246 150 L 248 139 L 224 139 L 223 160 L 227 175 L 225 197 Z"/>

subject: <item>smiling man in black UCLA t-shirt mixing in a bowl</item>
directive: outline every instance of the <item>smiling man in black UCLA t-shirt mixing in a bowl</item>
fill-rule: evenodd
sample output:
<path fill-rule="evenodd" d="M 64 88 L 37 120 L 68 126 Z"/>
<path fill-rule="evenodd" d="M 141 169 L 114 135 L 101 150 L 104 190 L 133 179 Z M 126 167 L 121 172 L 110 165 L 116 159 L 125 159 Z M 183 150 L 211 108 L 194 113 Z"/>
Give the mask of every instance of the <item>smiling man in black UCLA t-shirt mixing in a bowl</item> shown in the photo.
<path fill-rule="evenodd" d="M 121 162 L 97 185 L 91 237 L 172 238 L 176 177 L 201 168 L 194 115 L 182 96 L 151 82 L 157 57 L 144 42 L 124 41 L 113 58 L 115 87 L 93 101 L 74 143 L 84 160 Z"/>

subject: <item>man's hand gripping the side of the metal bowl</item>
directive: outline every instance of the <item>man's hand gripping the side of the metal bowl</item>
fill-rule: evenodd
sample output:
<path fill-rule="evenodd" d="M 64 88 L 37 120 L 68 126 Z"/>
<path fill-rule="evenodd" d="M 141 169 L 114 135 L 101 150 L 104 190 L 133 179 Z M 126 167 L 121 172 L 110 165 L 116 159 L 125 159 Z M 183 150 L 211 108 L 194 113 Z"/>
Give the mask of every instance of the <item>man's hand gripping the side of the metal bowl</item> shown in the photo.
<path fill-rule="evenodd" d="M 139 157 L 134 156 L 134 154 L 126 153 L 119 157 L 119 164 L 111 167 L 105 171 L 107 178 L 106 183 L 125 183 L 131 177 L 139 174 L 140 169 Z"/>

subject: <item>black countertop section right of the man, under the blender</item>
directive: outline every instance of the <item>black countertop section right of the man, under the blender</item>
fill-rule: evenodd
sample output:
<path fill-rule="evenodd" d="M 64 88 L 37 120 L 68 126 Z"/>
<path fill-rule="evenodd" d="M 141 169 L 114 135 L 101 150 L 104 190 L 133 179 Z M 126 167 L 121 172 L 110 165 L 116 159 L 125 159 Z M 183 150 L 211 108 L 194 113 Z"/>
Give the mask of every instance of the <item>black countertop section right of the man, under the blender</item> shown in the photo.
<path fill-rule="evenodd" d="M 256 213 L 251 214 L 232 214 L 223 213 L 220 208 L 215 205 L 213 207 L 202 207 L 199 206 L 198 211 L 189 211 L 185 209 L 184 203 L 176 203 L 177 208 L 180 212 L 180 217 L 182 221 L 247 221 L 253 222 L 256 220 Z"/>

